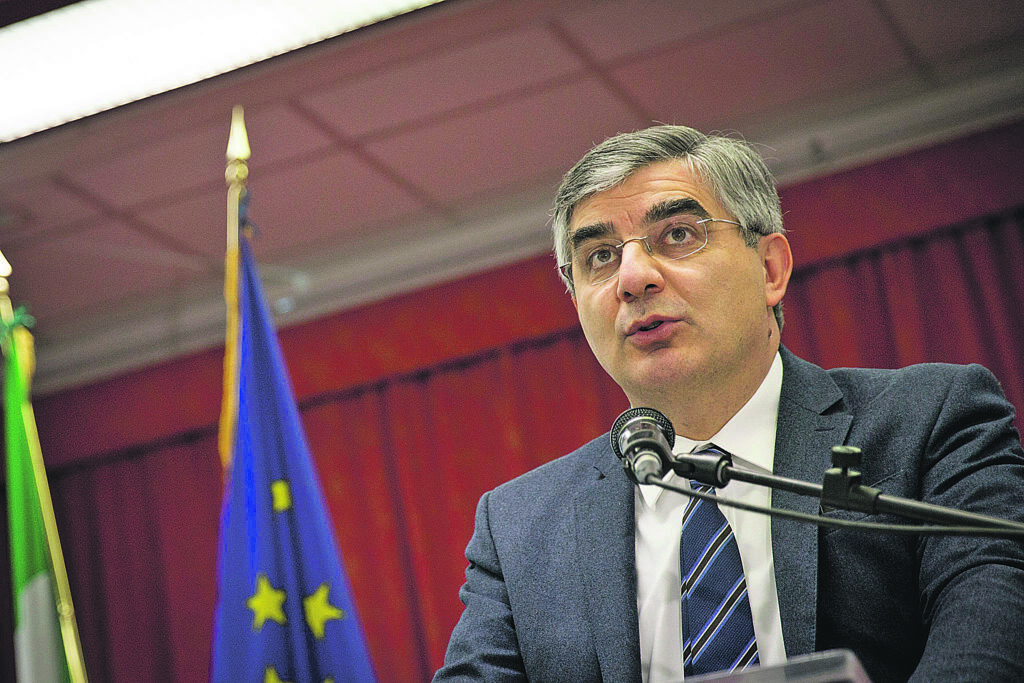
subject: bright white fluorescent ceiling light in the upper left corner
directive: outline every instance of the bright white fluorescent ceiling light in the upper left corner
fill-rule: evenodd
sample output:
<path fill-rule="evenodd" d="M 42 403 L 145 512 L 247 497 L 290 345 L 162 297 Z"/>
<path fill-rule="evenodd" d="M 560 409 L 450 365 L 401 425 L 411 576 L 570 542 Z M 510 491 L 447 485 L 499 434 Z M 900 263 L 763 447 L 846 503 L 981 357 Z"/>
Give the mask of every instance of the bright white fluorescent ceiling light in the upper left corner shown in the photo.
<path fill-rule="evenodd" d="M 78 2 L 0 29 L 0 142 L 437 2 Z"/>

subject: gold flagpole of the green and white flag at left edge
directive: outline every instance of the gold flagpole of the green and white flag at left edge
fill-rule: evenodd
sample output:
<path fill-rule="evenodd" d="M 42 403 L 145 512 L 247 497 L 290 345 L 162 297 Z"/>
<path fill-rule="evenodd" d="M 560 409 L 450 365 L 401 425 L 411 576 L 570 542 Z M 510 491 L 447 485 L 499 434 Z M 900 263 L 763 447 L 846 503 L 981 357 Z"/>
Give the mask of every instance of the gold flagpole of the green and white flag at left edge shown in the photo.
<path fill-rule="evenodd" d="M 10 263 L 0 253 L 0 319 L 4 325 L 14 323 L 14 307 L 10 300 L 10 287 L 7 278 L 10 276 Z M 11 336 L 11 343 L 14 337 Z M 34 364 L 35 360 L 33 359 Z M 28 386 L 28 383 L 27 383 Z M 40 513 L 43 517 L 43 529 L 46 532 L 46 545 L 50 552 L 50 564 L 56 582 L 57 620 L 60 624 L 60 638 L 63 641 L 65 657 L 68 659 L 68 673 L 72 683 L 87 683 L 85 674 L 85 657 L 82 654 L 82 641 L 78 635 L 78 623 L 75 620 L 75 605 L 71 599 L 71 583 L 68 581 L 68 567 L 65 565 L 63 550 L 57 536 L 57 522 L 53 514 L 53 500 L 50 498 L 50 487 L 46 477 L 46 467 L 43 464 L 43 454 L 39 447 L 39 432 L 36 430 L 36 417 L 32 411 L 32 402 L 22 403 L 22 418 L 25 423 L 26 440 L 29 445 L 29 458 L 32 461 L 33 479 L 36 482 L 36 494 L 39 497 Z"/>

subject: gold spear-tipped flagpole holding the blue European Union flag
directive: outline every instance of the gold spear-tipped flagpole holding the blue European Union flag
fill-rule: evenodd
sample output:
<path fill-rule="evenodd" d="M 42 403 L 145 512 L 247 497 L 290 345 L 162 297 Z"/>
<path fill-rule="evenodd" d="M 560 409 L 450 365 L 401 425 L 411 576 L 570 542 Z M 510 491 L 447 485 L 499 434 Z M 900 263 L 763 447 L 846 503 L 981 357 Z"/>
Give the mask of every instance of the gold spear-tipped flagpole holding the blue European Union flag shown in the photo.
<path fill-rule="evenodd" d="M 234 450 L 234 430 L 239 415 L 239 209 L 249 178 L 249 135 L 245 113 L 237 104 L 231 111 L 231 129 L 227 136 L 227 252 L 224 256 L 224 301 L 227 303 L 227 333 L 224 340 L 224 381 L 220 405 L 218 449 L 220 463 L 226 470 Z"/>

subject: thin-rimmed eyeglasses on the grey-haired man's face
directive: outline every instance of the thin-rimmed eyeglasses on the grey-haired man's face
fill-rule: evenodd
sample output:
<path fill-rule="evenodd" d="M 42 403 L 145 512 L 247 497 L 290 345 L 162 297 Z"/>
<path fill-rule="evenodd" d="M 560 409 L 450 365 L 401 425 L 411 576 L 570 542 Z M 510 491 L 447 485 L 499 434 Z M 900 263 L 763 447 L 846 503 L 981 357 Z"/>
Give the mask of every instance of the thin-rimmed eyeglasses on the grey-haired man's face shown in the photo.
<path fill-rule="evenodd" d="M 625 242 L 587 240 L 573 249 L 572 260 L 558 266 L 566 280 L 573 284 L 600 285 L 618 274 L 623 249 L 631 242 L 641 242 L 647 253 L 663 261 L 677 261 L 693 256 L 708 246 L 708 223 L 729 223 L 725 218 L 674 218 L 641 238 Z"/>

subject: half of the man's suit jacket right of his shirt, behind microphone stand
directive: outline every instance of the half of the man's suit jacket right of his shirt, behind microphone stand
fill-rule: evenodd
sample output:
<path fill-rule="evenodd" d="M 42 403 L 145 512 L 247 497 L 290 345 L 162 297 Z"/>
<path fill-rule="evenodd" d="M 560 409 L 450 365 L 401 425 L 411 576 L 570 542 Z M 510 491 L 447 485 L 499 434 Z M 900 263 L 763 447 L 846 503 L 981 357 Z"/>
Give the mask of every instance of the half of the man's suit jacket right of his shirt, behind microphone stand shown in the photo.
<path fill-rule="evenodd" d="M 1013 408 L 987 370 L 824 371 L 784 349 L 783 364 L 776 473 L 821 481 L 830 446 L 856 445 L 863 483 L 885 494 L 1024 517 L 1024 452 Z M 815 501 L 785 494 L 773 504 L 818 512 Z M 774 520 L 772 535 L 791 654 L 850 647 L 877 682 L 1024 680 L 1024 544 Z"/>

